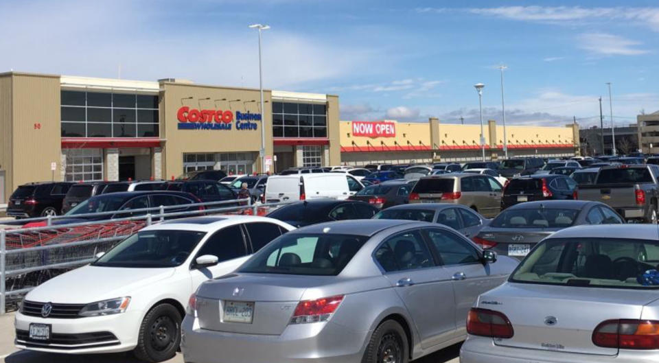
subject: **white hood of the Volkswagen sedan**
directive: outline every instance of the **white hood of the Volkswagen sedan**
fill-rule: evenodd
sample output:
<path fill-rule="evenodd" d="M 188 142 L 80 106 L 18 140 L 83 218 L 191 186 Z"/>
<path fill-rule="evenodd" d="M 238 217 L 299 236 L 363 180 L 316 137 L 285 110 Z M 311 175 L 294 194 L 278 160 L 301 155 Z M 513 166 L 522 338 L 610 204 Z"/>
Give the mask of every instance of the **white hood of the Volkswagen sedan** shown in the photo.
<path fill-rule="evenodd" d="M 174 274 L 174 268 L 83 266 L 46 281 L 25 296 L 40 303 L 85 304 L 131 296 Z"/>

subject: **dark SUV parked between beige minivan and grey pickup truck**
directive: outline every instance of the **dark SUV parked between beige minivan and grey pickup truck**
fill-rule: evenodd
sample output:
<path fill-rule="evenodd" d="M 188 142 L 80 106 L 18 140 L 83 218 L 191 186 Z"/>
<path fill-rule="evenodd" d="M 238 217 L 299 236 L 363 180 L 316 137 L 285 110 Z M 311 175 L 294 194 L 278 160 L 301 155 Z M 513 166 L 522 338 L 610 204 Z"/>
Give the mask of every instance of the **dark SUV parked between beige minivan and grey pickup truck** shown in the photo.
<path fill-rule="evenodd" d="M 501 209 L 533 200 L 576 199 L 577 182 L 568 176 L 529 175 L 511 179 L 503 191 Z"/>

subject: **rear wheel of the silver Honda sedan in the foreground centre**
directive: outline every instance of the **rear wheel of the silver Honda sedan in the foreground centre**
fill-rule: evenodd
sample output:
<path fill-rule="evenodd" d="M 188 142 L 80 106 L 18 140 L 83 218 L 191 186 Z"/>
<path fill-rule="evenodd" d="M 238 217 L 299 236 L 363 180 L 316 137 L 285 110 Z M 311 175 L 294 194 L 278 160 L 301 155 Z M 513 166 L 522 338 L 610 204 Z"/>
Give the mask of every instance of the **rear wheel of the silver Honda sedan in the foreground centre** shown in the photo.
<path fill-rule="evenodd" d="M 410 359 L 407 336 L 394 320 L 386 320 L 373 331 L 362 363 L 408 363 Z"/>

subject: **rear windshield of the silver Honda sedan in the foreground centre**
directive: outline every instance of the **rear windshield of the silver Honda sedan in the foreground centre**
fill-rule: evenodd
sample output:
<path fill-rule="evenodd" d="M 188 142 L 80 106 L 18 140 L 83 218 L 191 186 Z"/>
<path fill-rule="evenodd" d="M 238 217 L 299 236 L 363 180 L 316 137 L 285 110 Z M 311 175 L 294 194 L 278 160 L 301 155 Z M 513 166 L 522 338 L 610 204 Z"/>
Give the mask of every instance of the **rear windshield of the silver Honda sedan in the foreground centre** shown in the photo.
<path fill-rule="evenodd" d="M 283 235 L 259 250 L 239 272 L 336 276 L 367 239 L 325 233 Z"/>

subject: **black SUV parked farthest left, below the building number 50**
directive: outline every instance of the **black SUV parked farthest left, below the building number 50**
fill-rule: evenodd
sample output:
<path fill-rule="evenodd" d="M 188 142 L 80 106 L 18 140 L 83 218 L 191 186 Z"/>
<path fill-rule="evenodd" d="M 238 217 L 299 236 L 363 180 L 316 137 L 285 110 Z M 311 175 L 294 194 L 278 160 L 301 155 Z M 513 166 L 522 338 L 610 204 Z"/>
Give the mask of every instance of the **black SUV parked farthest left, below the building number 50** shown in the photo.
<path fill-rule="evenodd" d="M 9 197 L 7 215 L 16 219 L 58 215 L 71 185 L 65 182 L 19 185 Z"/>

